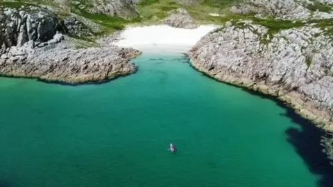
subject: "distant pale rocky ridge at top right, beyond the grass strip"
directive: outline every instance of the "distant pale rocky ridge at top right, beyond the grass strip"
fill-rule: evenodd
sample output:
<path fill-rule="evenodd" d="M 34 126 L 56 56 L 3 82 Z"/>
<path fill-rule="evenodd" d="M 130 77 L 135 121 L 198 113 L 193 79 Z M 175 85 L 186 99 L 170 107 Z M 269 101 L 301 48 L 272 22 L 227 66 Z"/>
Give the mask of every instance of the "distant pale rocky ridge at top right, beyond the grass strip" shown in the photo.
<path fill-rule="evenodd" d="M 322 0 L 330 1 L 330 0 Z M 315 12 L 309 10 L 316 9 L 316 1 L 298 1 L 298 0 L 246 0 L 238 6 L 231 8 L 232 13 L 248 15 L 257 14 L 256 17 L 275 17 L 277 19 L 331 19 L 333 12 Z M 327 4 L 327 2 L 326 2 Z M 327 4 L 326 6 L 329 6 Z"/>

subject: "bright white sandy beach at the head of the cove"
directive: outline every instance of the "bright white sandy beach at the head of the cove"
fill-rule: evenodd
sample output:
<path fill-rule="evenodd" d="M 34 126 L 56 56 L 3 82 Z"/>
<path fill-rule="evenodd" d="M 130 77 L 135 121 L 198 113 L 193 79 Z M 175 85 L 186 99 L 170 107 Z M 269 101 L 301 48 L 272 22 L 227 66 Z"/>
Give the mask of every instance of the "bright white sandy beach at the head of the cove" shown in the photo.
<path fill-rule="evenodd" d="M 199 26 L 196 29 L 173 28 L 167 25 L 129 27 L 121 33 L 117 46 L 132 47 L 144 53 L 185 53 L 198 40 L 216 26 Z"/>

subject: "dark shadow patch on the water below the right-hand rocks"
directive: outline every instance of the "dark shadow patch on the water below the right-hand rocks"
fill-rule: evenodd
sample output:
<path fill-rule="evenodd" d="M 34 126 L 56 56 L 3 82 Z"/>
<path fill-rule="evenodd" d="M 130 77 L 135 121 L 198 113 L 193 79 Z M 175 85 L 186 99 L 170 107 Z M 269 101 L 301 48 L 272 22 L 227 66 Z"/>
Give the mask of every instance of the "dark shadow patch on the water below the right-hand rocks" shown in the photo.
<path fill-rule="evenodd" d="M 260 94 L 257 91 L 250 91 L 242 88 L 249 94 L 259 96 L 264 99 L 273 100 L 276 105 L 285 109 L 282 116 L 286 116 L 300 126 L 300 129 L 296 127 L 289 127 L 285 133 L 288 135 L 287 141 L 293 145 L 296 152 L 303 159 L 307 168 L 313 175 L 318 175 L 318 187 L 332 187 L 333 186 L 333 166 L 330 165 L 330 159 L 323 152 L 323 145 L 321 145 L 322 136 L 326 133 L 316 127 L 311 121 L 302 118 L 291 107 L 284 104 L 273 96 L 267 96 Z"/>

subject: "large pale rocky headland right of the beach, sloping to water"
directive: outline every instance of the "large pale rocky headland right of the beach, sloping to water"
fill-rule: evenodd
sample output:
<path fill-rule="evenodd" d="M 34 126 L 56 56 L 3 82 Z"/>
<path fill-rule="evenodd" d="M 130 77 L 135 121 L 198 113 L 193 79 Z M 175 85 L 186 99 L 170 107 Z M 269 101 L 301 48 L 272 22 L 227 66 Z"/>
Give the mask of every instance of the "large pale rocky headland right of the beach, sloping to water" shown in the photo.
<path fill-rule="evenodd" d="M 275 35 L 252 21 L 228 22 L 189 51 L 191 64 L 216 80 L 278 96 L 333 131 L 333 40 L 314 25 Z"/>

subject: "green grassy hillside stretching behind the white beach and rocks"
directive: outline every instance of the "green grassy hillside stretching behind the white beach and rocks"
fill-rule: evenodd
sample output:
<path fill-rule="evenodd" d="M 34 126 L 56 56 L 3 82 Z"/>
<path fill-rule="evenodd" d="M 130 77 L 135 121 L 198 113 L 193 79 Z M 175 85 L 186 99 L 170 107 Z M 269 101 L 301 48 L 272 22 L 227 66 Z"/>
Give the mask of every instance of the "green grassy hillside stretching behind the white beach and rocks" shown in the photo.
<path fill-rule="evenodd" d="M 89 20 L 101 26 L 102 32 L 96 33 L 96 35 L 105 35 L 114 32 L 114 30 L 121 30 L 127 24 L 158 23 L 168 16 L 169 11 L 181 7 L 186 8 L 198 24 L 224 24 L 230 20 L 251 19 L 257 24 L 266 26 L 271 34 L 277 33 L 280 29 L 299 27 L 305 24 L 301 21 L 282 21 L 274 18 L 259 19 L 254 15 L 231 14 L 230 7 L 244 0 L 197 0 L 198 3 L 196 3 L 196 6 L 183 6 L 179 1 L 186 0 L 141 0 L 135 5 L 140 17 L 132 17 L 130 19 L 112 17 L 105 14 L 94 14 L 87 11 L 91 8 L 92 2 L 95 2 L 94 0 L 16 0 L 11 2 L 5 0 L 4 2 L 0 2 L 0 5 L 9 7 L 42 6 L 53 10 L 53 12 L 64 18 L 69 16 L 81 17 L 80 21 Z M 314 1 L 314 3 L 309 7 L 309 10 L 323 10 L 323 12 L 324 10 L 325 12 L 332 10 L 331 6 L 323 5 L 316 0 L 311 1 Z M 333 35 L 332 19 L 321 21 L 309 20 L 307 23 L 317 24 L 317 26 L 325 28 L 327 33 Z"/>

